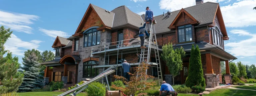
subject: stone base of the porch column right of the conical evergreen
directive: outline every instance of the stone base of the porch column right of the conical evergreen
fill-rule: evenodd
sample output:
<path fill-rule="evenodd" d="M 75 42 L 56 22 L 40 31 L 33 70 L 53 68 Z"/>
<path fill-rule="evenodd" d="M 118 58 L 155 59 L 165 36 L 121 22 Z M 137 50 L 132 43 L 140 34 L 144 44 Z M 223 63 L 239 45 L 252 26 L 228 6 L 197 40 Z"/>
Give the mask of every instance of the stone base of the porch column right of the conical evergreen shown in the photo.
<path fill-rule="evenodd" d="M 206 88 L 215 88 L 216 85 L 216 74 L 205 74 L 206 75 Z M 217 82 L 218 83 L 218 82 Z"/>

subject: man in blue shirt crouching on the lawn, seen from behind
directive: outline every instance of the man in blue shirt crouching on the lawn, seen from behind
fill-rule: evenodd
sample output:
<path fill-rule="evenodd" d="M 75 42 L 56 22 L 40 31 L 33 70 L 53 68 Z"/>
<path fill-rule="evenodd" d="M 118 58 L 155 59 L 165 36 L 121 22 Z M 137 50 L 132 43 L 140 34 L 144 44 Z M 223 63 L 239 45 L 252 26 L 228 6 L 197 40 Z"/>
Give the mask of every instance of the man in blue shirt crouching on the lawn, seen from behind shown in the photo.
<path fill-rule="evenodd" d="M 167 96 L 167 95 L 176 96 L 178 94 L 174 91 L 174 89 L 172 88 L 172 86 L 170 84 L 163 81 L 161 88 L 160 88 L 159 95 L 160 96 Z"/>

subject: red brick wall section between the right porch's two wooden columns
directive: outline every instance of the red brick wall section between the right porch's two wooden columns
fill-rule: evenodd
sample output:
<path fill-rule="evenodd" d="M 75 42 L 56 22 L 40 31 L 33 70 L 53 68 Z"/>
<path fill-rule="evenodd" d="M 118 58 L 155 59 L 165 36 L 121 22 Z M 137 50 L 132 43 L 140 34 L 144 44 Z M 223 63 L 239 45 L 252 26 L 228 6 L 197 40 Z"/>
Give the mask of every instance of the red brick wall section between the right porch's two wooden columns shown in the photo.
<path fill-rule="evenodd" d="M 222 74 L 221 74 L 221 68 L 220 68 L 220 58 L 212 56 L 212 67 L 214 74 L 218 75 L 220 74 L 220 82 L 222 83 Z"/>

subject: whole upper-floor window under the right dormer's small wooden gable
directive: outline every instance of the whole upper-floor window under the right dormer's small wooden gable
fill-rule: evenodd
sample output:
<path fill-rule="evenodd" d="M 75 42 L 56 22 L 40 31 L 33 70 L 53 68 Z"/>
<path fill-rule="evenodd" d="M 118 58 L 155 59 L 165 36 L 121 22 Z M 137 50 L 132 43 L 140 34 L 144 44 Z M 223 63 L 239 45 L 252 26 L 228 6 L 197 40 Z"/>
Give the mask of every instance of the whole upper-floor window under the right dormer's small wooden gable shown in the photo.
<path fill-rule="evenodd" d="M 185 25 L 178 27 L 178 41 L 179 42 L 186 42 L 192 41 L 192 26 Z"/>

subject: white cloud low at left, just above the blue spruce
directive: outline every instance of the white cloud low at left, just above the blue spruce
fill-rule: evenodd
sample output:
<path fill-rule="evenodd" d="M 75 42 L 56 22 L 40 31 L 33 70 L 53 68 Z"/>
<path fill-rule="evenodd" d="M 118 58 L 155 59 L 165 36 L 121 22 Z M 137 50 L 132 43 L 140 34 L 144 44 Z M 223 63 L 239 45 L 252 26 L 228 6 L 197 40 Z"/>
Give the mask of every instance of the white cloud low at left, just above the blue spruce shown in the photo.
<path fill-rule="evenodd" d="M 24 52 L 27 51 L 28 49 L 32 50 L 33 48 L 35 49 L 39 48 L 40 46 L 39 43 L 41 42 L 43 41 L 40 41 L 40 40 L 31 40 L 29 42 L 22 41 L 16 35 L 12 34 L 11 38 L 7 40 L 4 46 L 5 46 L 5 50 L 10 50 L 10 52 L 12 52 L 15 55 L 24 56 Z"/>

